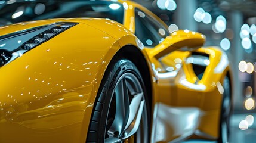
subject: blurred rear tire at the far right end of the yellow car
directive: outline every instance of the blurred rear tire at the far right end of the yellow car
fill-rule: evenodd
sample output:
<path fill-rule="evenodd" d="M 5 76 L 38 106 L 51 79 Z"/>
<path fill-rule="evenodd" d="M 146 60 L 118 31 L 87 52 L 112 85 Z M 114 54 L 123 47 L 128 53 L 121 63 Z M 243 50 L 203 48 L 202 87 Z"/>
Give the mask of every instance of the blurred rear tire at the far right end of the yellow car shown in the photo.
<path fill-rule="evenodd" d="M 225 77 L 223 81 L 223 101 L 221 105 L 221 117 L 220 117 L 220 138 L 219 143 L 229 142 L 230 136 L 230 114 L 232 109 L 231 98 L 231 86 L 229 77 Z"/>

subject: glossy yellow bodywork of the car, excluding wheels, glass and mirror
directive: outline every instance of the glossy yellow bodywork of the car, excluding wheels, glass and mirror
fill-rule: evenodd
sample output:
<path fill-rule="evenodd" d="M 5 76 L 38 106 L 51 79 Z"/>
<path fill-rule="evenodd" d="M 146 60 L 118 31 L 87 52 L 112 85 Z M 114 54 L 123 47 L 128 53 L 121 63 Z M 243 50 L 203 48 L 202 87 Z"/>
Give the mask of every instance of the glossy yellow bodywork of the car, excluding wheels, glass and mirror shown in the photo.
<path fill-rule="evenodd" d="M 152 92 L 152 142 L 183 138 L 184 130 L 161 122 L 169 120 L 159 118 L 163 105 L 170 110 L 199 109 L 197 132 L 186 138 L 197 135 L 194 137 L 218 139 L 221 84 L 230 74 L 226 54 L 215 47 L 196 49 L 194 52 L 209 54 L 211 61 L 199 79 L 186 62 L 191 52 L 172 51 L 161 62 L 175 67 L 174 71 L 169 75 L 161 73 L 158 69 L 163 67 L 155 57 L 156 48 L 144 47 L 134 35 L 134 8 L 162 21 L 134 2 L 119 2 L 128 5 L 124 26 L 97 18 L 63 18 L 0 27 L 3 36 L 56 22 L 78 23 L 1 67 L 0 142 L 85 142 L 104 71 L 115 54 L 127 45 L 143 54 L 144 59 L 137 60 L 147 63 L 145 71 L 150 76 L 145 82 L 149 82 L 148 90 Z M 160 125 L 165 126 L 162 131 Z"/>

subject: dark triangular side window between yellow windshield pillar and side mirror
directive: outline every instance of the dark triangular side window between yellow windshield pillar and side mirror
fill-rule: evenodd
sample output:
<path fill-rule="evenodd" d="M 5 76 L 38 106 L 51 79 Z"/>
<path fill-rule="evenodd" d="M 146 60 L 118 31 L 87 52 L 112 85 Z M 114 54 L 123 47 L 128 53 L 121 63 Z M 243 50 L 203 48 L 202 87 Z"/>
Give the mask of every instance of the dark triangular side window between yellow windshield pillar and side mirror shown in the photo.
<path fill-rule="evenodd" d="M 147 47 L 154 47 L 169 35 L 165 26 L 155 18 L 135 8 L 135 35 Z"/>

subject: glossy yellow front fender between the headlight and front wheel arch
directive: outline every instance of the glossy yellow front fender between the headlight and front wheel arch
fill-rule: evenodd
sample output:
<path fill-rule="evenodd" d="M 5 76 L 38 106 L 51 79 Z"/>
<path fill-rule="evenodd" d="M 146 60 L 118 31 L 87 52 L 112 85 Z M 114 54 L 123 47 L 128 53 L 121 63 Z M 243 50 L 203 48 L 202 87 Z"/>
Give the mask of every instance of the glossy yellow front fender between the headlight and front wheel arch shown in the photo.
<path fill-rule="evenodd" d="M 84 142 L 101 78 L 119 48 L 80 23 L 1 67 L 0 142 Z"/>

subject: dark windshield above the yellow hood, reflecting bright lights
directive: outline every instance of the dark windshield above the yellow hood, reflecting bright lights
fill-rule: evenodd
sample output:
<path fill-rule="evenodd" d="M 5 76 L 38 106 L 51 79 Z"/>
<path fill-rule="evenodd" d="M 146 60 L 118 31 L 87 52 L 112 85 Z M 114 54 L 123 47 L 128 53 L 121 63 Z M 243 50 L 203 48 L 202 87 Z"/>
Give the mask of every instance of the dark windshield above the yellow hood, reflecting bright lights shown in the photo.
<path fill-rule="evenodd" d="M 0 1 L 0 26 L 73 17 L 109 18 L 123 23 L 124 8 L 111 1 Z"/>

